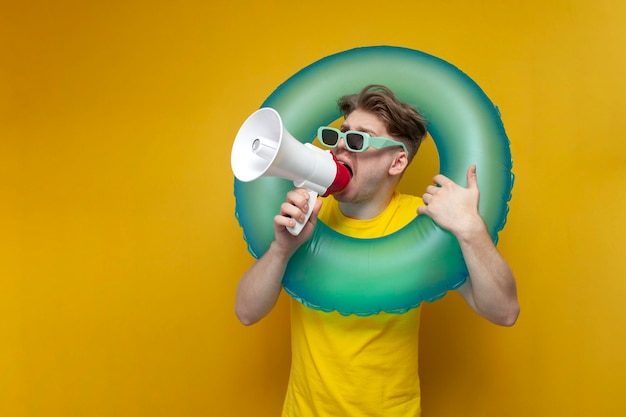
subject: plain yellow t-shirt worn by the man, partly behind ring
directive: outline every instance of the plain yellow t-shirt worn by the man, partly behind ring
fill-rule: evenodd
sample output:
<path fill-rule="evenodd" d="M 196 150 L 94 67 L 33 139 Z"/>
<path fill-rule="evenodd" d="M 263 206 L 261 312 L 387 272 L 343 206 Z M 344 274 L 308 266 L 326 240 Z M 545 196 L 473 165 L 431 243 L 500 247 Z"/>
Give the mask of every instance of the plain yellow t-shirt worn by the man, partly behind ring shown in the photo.
<path fill-rule="evenodd" d="M 328 198 L 319 218 L 352 237 L 379 237 L 409 223 L 421 204 L 396 193 L 378 217 L 355 220 Z M 292 363 L 283 417 L 418 417 L 420 311 L 342 316 L 291 300 Z"/>

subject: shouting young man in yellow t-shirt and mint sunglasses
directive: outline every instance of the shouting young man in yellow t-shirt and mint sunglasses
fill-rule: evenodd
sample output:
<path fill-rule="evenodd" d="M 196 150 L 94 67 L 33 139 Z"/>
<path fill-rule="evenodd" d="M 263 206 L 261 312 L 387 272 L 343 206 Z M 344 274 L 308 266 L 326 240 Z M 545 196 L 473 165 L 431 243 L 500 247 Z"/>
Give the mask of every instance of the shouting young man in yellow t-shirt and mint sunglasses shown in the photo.
<path fill-rule="evenodd" d="M 437 175 L 423 199 L 401 195 L 396 187 L 426 134 L 421 115 L 379 85 L 342 97 L 339 108 L 345 116 L 341 132 L 326 129 L 328 137 L 320 140 L 333 147 L 352 180 L 323 208 L 318 199 L 298 236 L 286 227 L 304 218 L 308 194 L 287 193 L 274 218 L 275 240 L 239 282 L 239 320 L 250 325 L 271 311 L 287 263 L 311 236 L 318 215 L 349 236 L 379 237 L 401 229 L 417 212 L 457 238 L 470 275 L 457 291 L 470 307 L 495 324 L 513 325 L 519 314 L 515 279 L 478 213 L 475 167 L 468 167 L 467 187 Z M 346 137 L 348 131 L 366 135 Z M 368 136 L 390 140 L 364 149 L 376 142 Z M 292 366 L 283 417 L 419 416 L 420 311 L 346 317 L 291 300 Z"/>

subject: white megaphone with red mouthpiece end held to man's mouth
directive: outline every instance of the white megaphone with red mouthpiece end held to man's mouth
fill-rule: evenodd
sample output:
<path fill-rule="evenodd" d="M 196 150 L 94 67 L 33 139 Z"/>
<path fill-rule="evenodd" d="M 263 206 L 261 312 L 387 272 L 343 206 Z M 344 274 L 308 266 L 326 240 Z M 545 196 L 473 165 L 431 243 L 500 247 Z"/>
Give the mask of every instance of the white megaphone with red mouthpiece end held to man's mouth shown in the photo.
<path fill-rule="evenodd" d="M 302 144 L 283 128 L 278 112 L 264 107 L 252 113 L 239 129 L 230 155 L 230 163 L 239 181 L 249 182 L 261 176 L 292 180 L 296 187 L 310 194 L 309 211 L 304 222 L 287 229 L 298 235 L 308 221 L 318 195 L 338 193 L 350 182 L 350 171 L 330 151 L 310 143 Z"/>

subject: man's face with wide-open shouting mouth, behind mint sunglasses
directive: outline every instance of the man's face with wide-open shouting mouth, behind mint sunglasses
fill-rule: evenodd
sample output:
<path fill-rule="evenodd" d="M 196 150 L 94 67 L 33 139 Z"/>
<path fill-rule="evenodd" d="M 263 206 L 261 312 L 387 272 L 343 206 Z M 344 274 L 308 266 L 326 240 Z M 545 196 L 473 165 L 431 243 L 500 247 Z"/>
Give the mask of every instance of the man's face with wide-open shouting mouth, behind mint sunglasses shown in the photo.
<path fill-rule="evenodd" d="M 383 136 L 393 139 L 383 121 L 374 113 L 355 110 L 348 115 L 341 125 L 342 131 L 357 130 L 371 136 Z M 364 152 L 351 152 L 340 139 L 332 152 L 337 160 L 345 164 L 352 172 L 348 187 L 335 198 L 340 202 L 361 203 L 375 198 L 389 178 L 389 167 L 401 151 L 400 147 L 382 149 L 369 148 Z"/>

